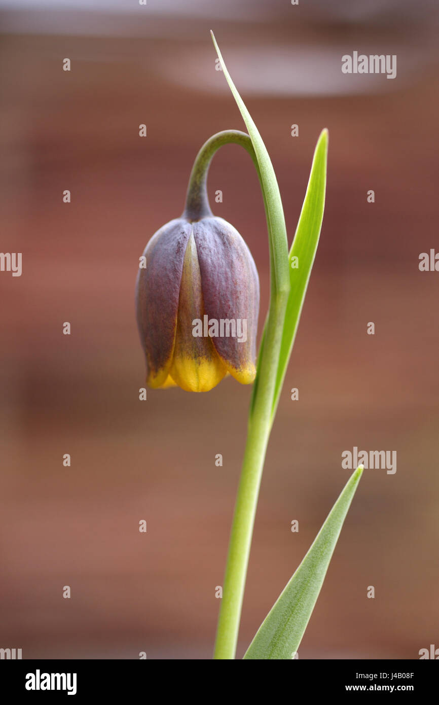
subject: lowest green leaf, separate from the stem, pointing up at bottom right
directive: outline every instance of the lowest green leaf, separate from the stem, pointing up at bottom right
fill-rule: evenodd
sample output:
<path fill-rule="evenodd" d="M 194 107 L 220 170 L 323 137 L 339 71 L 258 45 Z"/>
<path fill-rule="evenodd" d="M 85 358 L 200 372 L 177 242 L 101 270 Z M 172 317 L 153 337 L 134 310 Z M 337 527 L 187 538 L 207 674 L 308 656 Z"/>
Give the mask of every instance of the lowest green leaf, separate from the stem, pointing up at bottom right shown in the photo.
<path fill-rule="evenodd" d="M 274 603 L 244 658 L 291 659 L 307 628 L 363 467 L 357 467 L 302 563 Z"/>

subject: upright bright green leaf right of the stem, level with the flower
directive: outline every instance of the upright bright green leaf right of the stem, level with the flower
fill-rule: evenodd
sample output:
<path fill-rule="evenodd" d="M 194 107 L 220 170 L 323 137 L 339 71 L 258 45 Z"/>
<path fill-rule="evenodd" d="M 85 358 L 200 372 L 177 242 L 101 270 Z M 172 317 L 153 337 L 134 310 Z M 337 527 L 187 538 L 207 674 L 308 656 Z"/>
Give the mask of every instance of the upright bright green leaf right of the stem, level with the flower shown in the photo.
<path fill-rule="evenodd" d="M 325 208 L 327 156 L 328 130 L 323 130 L 314 152 L 308 188 L 289 255 L 291 288 L 283 325 L 282 343 L 280 344 L 278 372 L 273 396 L 273 416 L 278 405 L 292 345 L 299 326 L 305 294 L 307 293 L 309 276 L 311 275 L 317 245 L 319 244 L 323 210 Z M 293 262 L 296 262 L 293 257 L 297 257 L 297 269 L 293 269 L 291 266 Z"/>

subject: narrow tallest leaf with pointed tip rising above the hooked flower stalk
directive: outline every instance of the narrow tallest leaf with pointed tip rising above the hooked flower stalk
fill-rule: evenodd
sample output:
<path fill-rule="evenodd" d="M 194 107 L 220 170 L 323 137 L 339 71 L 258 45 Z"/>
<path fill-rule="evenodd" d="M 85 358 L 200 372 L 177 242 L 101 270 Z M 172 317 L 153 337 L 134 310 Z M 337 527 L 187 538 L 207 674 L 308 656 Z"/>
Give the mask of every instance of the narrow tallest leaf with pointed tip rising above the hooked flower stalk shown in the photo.
<path fill-rule="evenodd" d="M 268 226 L 268 235 L 270 240 L 270 259 L 273 266 L 274 277 L 271 282 L 277 291 L 287 291 L 290 287 L 288 278 L 288 241 L 287 231 L 285 228 L 285 216 L 283 214 L 282 201 L 280 200 L 280 192 L 276 174 L 274 173 L 273 164 L 268 156 L 266 146 L 262 141 L 258 128 L 254 124 L 252 117 L 247 110 L 244 101 L 237 92 L 233 80 L 230 78 L 227 66 L 225 66 L 221 51 L 218 48 L 214 32 L 211 32 L 216 54 L 221 63 L 225 80 L 228 82 L 230 90 L 235 98 L 235 102 L 240 109 L 240 113 L 247 127 L 247 131 L 252 140 L 254 152 L 259 166 L 259 178 L 261 180 L 262 192 L 264 195 L 264 204 L 266 207 L 266 217 Z"/>

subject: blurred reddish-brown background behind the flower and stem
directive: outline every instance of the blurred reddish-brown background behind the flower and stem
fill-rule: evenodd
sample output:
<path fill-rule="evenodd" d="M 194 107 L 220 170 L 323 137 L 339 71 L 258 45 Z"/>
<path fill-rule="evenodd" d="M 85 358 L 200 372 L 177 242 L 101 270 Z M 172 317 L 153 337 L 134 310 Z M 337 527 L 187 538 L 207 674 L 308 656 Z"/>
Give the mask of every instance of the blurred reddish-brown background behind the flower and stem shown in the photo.
<path fill-rule="evenodd" d="M 1 2 L 1 250 L 23 252 L 21 277 L 0 273 L 1 647 L 211 658 L 250 388 L 227 379 L 140 402 L 134 314 L 137 258 L 182 212 L 197 149 L 244 128 L 211 28 L 271 154 L 290 240 L 316 139 L 330 133 L 321 244 L 268 450 L 238 656 L 345 484 L 353 446 L 397 450 L 397 472 L 364 472 L 299 657 L 419 658 L 439 646 L 439 274 L 418 268 L 420 252 L 439 250 L 434 7 Z M 342 75 L 354 50 L 397 54 L 397 78 Z M 209 192 L 252 250 L 264 319 L 264 209 L 244 150 L 215 157 Z"/>

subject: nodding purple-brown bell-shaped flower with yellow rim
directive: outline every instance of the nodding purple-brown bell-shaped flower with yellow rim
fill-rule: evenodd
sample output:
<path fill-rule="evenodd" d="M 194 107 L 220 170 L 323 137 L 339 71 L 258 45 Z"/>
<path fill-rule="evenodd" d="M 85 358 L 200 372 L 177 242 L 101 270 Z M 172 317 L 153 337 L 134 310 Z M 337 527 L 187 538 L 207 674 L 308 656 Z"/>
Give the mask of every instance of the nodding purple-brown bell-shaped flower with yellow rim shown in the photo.
<path fill-rule="evenodd" d="M 211 214 L 185 214 L 153 235 L 137 276 L 147 384 L 209 391 L 256 376 L 259 278 L 241 235 Z"/>

